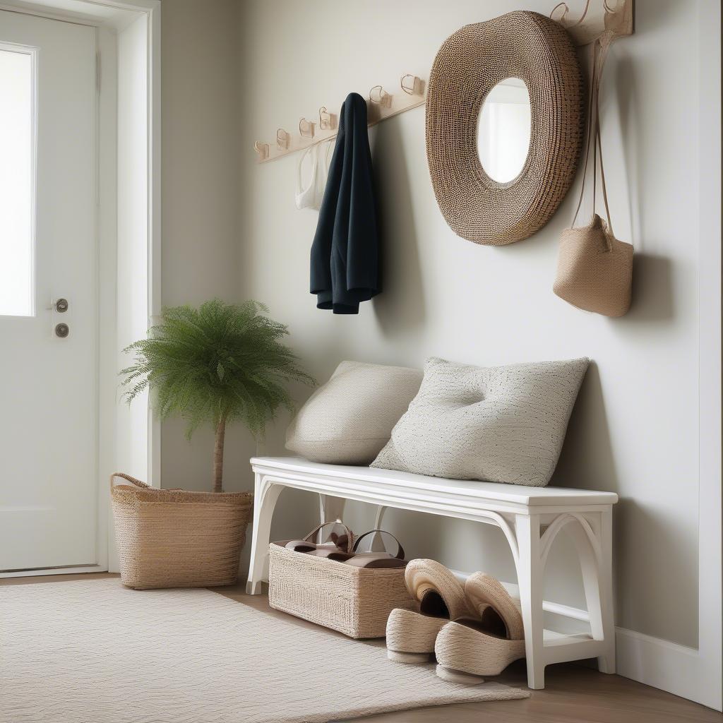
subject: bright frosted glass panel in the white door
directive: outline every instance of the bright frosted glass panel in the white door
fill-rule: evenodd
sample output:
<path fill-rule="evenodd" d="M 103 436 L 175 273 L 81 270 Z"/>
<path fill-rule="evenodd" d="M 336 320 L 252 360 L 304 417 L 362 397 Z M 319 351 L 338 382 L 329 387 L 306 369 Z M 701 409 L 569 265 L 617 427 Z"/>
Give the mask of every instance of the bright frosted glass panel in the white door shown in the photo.
<path fill-rule="evenodd" d="M 0 315 L 33 316 L 33 55 L 0 49 Z"/>

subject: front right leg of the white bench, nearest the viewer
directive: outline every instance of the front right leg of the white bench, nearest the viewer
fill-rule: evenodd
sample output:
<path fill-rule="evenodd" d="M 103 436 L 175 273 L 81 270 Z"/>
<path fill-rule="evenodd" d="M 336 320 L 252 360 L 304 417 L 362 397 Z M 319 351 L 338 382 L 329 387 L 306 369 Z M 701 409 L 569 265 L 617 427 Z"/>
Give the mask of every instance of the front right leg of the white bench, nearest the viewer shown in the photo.
<path fill-rule="evenodd" d="M 525 626 L 527 685 L 534 690 L 544 688 L 544 643 L 542 640 L 542 560 L 540 558 L 539 515 L 516 515 L 522 620 Z"/>

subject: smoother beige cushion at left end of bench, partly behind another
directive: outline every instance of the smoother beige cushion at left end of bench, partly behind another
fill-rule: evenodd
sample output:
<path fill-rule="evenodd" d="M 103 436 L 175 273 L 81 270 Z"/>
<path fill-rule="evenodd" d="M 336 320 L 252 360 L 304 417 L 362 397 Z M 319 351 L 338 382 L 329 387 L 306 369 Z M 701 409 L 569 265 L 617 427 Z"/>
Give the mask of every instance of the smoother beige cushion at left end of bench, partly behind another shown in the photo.
<path fill-rule="evenodd" d="M 286 449 L 312 462 L 369 464 L 421 383 L 421 369 L 342 361 L 289 425 Z"/>

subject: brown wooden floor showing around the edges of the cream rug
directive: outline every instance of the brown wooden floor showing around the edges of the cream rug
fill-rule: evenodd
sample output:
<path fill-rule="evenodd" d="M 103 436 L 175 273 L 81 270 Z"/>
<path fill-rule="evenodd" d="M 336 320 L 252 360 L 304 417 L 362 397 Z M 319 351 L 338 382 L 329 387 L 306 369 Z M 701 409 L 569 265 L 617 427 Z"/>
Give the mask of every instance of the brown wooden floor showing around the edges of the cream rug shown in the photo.
<path fill-rule="evenodd" d="M 93 573 L 1 578 L 0 586 L 47 582 L 62 584 L 71 580 L 107 577 L 111 575 Z M 241 585 L 218 588 L 214 592 L 236 600 L 239 604 L 288 619 L 287 615 L 268 607 L 265 595 L 247 595 Z M 312 627 L 312 623 L 303 620 L 296 622 Z M 526 672 L 523 661 L 510 665 L 496 680 L 524 687 Z M 533 691 L 531 698 L 523 701 L 464 703 L 388 713 L 363 720 L 366 723 L 723 723 L 722 714 L 697 703 L 618 675 L 603 675 L 576 664 L 547 667 L 545 680 L 547 687 L 544 690 Z"/>

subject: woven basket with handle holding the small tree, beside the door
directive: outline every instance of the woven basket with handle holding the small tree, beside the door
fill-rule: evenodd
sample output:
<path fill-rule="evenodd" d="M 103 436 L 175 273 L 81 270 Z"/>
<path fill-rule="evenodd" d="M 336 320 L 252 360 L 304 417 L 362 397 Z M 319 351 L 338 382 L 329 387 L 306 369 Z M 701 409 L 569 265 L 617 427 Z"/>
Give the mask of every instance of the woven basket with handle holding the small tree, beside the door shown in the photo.
<path fill-rule="evenodd" d="M 114 484 L 114 478 L 130 484 Z M 232 585 L 252 515 L 251 492 L 154 489 L 111 475 L 122 583 L 136 590 Z"/>

